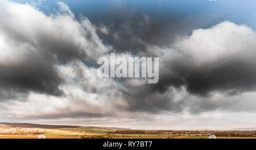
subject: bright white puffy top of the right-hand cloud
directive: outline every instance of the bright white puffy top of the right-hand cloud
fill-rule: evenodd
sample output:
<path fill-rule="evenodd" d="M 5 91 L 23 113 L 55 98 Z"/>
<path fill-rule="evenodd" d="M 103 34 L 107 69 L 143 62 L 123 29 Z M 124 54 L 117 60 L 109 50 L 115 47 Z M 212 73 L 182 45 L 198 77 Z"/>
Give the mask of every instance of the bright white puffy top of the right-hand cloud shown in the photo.
<path fill-rule="evenodd" d="M 255 40 L 256 33 L 251 28 L 222 22 L 212 28 L 194 30 L 175 47 L 196 64 L 205 65 L 230 57 L 255 55 Z"/>

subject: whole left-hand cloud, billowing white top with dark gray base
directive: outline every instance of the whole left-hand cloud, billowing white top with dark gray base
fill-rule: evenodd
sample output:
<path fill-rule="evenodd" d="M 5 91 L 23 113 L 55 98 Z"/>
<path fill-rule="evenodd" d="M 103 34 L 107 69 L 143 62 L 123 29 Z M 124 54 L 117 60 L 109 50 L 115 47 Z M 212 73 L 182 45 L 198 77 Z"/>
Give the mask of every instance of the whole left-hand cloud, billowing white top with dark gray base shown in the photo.
<path fill-rule="evenodd" d="M 28 4 L 1 2 L 0 87 L 61 95 L 56 63 L 94 64 L 108 51 L 88 19 L 79 22 L 67 5 L 59 5 L 59 14 L 47 16 Z"/>

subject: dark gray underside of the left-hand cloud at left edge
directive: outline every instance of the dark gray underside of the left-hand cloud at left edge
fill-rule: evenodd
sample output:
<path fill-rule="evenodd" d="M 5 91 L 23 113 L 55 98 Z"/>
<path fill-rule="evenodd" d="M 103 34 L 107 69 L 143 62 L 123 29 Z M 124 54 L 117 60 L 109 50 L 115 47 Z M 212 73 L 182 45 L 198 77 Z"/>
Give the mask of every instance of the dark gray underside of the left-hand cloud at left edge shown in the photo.
<path fill-rule="evenodd" d="M 36 91 L 51 95 L 61 95 L 60 77 L 48 62 L 30 61 L 19 66 L 0 66 L 0 87 L 20 93 Z"/>

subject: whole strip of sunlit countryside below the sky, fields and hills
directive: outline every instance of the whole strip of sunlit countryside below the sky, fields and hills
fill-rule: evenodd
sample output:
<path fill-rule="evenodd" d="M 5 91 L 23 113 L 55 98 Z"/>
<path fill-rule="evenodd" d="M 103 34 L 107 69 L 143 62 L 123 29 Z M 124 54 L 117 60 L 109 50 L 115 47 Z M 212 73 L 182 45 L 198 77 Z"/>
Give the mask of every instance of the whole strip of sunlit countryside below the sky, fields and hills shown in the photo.
<path fill-rule="evenodd" d="M 0 139 L 256 139 L 256 130 L 131 130 L 112 127 L 0 123 Z"/>

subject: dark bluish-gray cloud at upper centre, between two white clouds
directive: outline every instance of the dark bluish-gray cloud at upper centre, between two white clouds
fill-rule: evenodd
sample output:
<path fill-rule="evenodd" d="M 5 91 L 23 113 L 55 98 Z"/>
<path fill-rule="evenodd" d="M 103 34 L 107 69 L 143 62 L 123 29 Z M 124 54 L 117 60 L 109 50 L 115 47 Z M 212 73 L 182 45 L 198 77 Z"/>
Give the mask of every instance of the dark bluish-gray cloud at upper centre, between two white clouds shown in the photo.
<path fill-rule="evenodd" d="M 117 52 L 129 51 L 135 55 L 143 53 L 151 56 L 152 53 L 147 52 L 148 45 L 169 47 L 176 38 L 191 33 L 194 28 L 188 26 L 191 23 L 185 20 L 185 16 L 162 18 L 128 10 L 120 11 L 111 14 L 108 20 L 101 20 L 108 28 L 107 34 L 97 30 L 103 42 L 112 45 Z"/>

